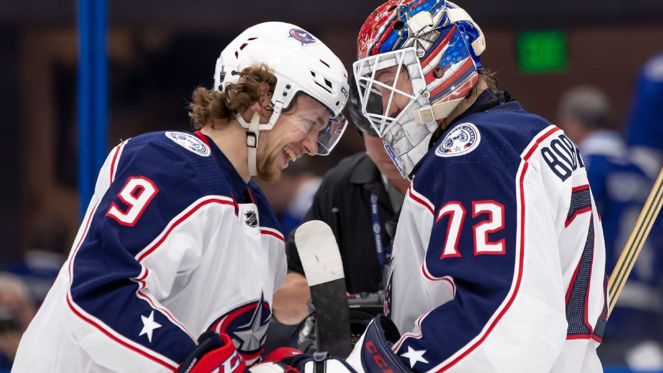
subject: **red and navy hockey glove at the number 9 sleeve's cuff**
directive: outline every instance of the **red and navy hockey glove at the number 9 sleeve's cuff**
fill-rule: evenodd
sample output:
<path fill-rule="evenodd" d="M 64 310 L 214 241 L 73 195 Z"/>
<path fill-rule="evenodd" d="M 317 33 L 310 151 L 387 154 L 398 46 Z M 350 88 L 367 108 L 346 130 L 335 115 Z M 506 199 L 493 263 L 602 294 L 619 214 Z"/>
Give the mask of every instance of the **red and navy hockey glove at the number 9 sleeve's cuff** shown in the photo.
<path fill-rule="evenodd" d="M 184 358 L 176 373 L 244 373 L 246 365 L 226 334 L 208 331 L 200 343 Z"/>

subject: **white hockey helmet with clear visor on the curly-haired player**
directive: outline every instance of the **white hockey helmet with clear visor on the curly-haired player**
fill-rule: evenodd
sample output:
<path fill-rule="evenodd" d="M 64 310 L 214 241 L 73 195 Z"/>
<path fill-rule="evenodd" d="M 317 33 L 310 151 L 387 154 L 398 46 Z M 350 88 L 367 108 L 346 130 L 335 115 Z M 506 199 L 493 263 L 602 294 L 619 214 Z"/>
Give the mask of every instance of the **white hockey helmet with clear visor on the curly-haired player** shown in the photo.
<path fill-rule="evenodd" d="M 282 110 L 290 106 L 299 92 L 314 98 L 330 112 L 326 127 L 318 133 L 318 154 L 328 155 L 347 125 L 341 112 L 347 102 L 349 86 L 341 60 L 318 38 L 296 25 L 260 23 L 246 29 L 223 49 L 216 62 L 214 89 L 223 92 L 227 84 L 237 83 L 239 72 L 260 64 L 267 65 L 276 76 L 269 123 L 251 125 L 241 115 L 237 117 L 239 123 L 249 129 L 247 146 L 251 175 L 256 173 L 255 148 L 259 130 L 272 129 Z"/>

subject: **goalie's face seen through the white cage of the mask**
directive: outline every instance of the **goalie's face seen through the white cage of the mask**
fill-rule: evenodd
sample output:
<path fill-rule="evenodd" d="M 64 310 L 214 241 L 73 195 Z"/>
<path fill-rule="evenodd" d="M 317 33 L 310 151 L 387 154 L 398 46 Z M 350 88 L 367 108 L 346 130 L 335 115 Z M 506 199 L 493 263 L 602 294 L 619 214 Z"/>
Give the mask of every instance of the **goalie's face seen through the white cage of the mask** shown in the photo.
<path fill-rule="evenodd" d="M 404 66 L 401 66 L 400 72 L 396 74 L 397 70 L 398 66 L 391 66 L 389 68 L 378 70 L 375 72 L 375 80 L 385 84 L 385 86 L 394 87 L 396 90 L 412 95 L 412 82 L 410 82 L 410 74 L 408 74 L 408 70 L 404 68 Z M 395 86 L 394 83 L 396 84 Z M 398 92 L 394 92 L 378 84 L 375 85 L 375 88 L 380 91 L 382 96 L 383 115 L 395 118 L 398 113 L 402 112 L 405 106 L 410 103 L 410 98 L 403 96 Z M 391 105 L 389 105 L 389 98 L 392 92 L 394 92 L 394 94 L 391 98 Z"/>

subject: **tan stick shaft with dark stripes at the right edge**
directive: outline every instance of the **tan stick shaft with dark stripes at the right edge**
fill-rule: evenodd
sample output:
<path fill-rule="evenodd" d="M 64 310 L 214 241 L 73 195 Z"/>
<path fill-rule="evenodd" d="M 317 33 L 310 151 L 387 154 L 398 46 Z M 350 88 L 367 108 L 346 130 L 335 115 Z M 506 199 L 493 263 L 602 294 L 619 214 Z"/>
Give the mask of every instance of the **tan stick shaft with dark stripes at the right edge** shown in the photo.
<path fill-rule="evenodd" d="M 633 264 L 636 258 L 638 258 L 638 254 L 640 254 L 644 240 L 646 240 L 649 231 L 652 229 L 652 225 L 654 225 L 654 220 L 656 220 L 662 204 L 663 169 L 658 174 L 654 187 L 652 187 L 647 201 L 644 202 L 640 216 L 638 216 L 638 220 L 635 222 L 631 236 L 629 236 L 629 240 L 615 264 L 615 269 L 613 269 L 613 273 L 608 279 L 608 317 L 610 317 L 615 303 L 617 303 L 617 298 L 624 287 L 624 283 L 629 278 Z"/>

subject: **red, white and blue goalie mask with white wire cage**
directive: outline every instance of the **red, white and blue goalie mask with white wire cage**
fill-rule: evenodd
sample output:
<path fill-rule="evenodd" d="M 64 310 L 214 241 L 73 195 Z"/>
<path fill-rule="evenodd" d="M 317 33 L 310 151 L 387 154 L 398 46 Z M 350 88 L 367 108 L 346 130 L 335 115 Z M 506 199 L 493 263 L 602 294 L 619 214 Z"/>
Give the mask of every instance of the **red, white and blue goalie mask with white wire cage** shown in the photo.
<path fill-rule="evenodd" d="M 477 84 L 483 50 L 479 26 L 445 0 L 387 1 L 361 27 L 353 64 L 361 111 L 403 177 L 428 153 L 438 123 Z"/>

